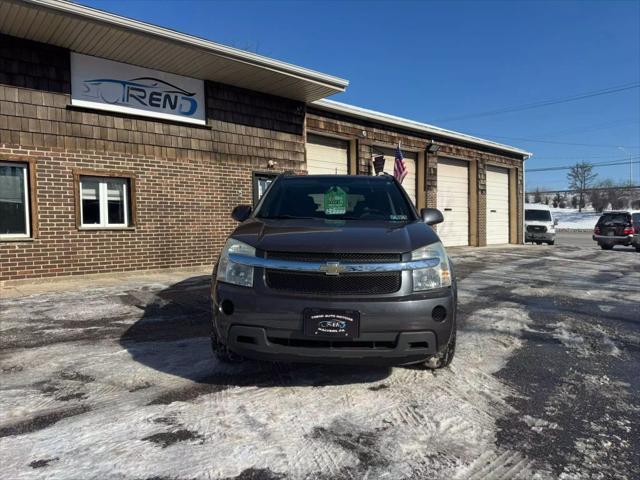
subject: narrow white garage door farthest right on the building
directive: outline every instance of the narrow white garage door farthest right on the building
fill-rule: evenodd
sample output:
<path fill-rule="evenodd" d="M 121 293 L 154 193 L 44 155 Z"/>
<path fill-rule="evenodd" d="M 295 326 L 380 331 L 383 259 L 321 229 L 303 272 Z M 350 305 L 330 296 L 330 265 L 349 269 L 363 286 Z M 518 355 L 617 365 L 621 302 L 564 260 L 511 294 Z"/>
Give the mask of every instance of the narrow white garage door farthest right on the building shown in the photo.
<path fill-rule="evenodd" d="M 509 170 L 487 167 L 487 245 L 509 243 Z"/>

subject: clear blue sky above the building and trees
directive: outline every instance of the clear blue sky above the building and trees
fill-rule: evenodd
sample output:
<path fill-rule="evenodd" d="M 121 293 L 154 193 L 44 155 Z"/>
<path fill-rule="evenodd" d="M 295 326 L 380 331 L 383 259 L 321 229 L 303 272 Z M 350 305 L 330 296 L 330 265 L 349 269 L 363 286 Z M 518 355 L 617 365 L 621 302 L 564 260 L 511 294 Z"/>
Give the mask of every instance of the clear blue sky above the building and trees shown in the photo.
<path fill-rule="evenodd" d="M 579 161 L 631 158 L 640 184 L 640 1 L 79 3 L 345 78 L 337 101 L 523 148 L 528 191 L 567 185 L 567 170 L 529 170 Z M 628 163 L 595 171 L 630 179 Z"/>

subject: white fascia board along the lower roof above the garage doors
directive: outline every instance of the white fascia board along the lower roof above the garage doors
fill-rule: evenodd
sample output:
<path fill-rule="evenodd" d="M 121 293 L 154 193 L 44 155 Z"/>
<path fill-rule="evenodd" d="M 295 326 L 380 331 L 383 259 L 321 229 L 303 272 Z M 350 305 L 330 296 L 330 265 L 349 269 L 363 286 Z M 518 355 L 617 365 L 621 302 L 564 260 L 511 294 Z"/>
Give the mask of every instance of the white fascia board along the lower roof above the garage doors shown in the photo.
<path fill-rule="evenodd" d="M 433 135 L 440 135 L 446 138 L 460 140 L 460 141 L 464 141 L 464 142 L 468 142 L 476 145 L 483 145 L 485 147 L 491 147 L 498 150 L 504 150 L 507 152 L 515 153 L 517 155 L 521 155 L 524 160 L 533 156 L 531 152 L 527 152 L 526 150 L 521 150 L 519 148 L 512 147 L 509 145 L 504 145 L 502 143 L 492 142 L 491 140 L 484 140 L 482 138 L 474 137 L 472 135 L 454 132 L 453 130 L 447 130 L 445 128 L 436 127 L 426 123 L 416 122 L 414 120 L 409 120 L 407 118 L 396 117 L 395 115 L 376 112 L 375 110 L 368 110 L 366 108 L 361 108 L 353 105 L 348 105 L 346 103 L 336 102 L 335 100 L 327 100 L 327 99 L 316 100 L 314 102 L 311 102 L 311 105 L 321 110 L 326 110 L 326 111 L 335 112 L 335 113 L 342 113 L 342 114 L 349 115 L 356 118 L 361 118 L 365 120 L 376 121 L 379 123 L 385 123 L 387 125 L 394 125 L 394 126 L 406 128 L 407 130 L 413 130 L 413 131 L 422 132 L 422 133 L 429 133 Z"/>

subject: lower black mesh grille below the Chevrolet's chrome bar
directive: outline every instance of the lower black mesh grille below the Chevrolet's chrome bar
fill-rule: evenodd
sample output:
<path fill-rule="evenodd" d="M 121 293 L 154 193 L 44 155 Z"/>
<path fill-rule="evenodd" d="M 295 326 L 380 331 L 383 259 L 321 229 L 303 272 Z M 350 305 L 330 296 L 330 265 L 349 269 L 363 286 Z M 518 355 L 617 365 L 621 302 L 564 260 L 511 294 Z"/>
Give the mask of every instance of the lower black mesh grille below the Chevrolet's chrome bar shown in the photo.
<path fill-rule="evenodd" d="M 267 270 L 267 286 L 274 290 L 311 295 L 380 295 L 400 290 L 401 272 L 324 273 Z"/>

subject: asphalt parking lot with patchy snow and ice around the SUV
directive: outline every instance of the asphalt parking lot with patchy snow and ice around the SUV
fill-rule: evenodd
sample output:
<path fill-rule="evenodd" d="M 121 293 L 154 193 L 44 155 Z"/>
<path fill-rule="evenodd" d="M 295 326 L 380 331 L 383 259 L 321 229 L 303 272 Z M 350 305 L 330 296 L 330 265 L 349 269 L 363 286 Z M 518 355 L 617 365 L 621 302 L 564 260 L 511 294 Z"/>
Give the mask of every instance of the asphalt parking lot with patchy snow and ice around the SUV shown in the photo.
<path fill-rule="evenodd" d="M 435 373 L 218 364 L 206 270 L 5 289 L 0 476 L 640 478 L 640 254 L 452 256 Z"/>

